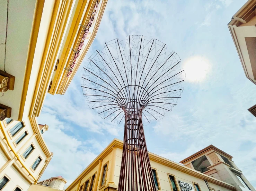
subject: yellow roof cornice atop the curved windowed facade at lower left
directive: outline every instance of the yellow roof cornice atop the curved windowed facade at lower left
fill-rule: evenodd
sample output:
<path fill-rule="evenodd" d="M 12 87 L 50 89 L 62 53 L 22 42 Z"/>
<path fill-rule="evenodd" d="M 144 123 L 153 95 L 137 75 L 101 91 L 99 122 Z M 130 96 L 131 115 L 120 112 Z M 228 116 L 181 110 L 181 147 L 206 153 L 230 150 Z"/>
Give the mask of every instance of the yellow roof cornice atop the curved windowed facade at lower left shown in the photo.
<path fill-rule="evenodd" d="M 43 152 L 45 153 L 46 157 L 51 157 L 51 152 L 48 149 L 48 147 L 47 147 L 47 145 L 44 141 L 42 133 L 40 132 L 40 128 L 38 126 L 36 118 L 35 117 L 29 117 L 29 121 L 30 121 L 30 124 L 31 124 L 31 127 L 32 127 L 34 133 L 37 134 L 36 140 L 39 143 L 40 147 L 42 148 Z"/>

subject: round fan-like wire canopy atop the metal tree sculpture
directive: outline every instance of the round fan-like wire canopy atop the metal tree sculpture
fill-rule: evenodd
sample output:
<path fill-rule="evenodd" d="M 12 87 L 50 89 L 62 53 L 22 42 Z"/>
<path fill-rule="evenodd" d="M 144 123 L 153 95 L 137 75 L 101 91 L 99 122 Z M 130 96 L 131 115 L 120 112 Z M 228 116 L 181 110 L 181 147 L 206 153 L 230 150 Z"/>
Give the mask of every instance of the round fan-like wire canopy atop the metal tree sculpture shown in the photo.
<path fill-rule="evenodd" d="M 88 59 L 82 76 L 89 107 L 117 123 L 125 112 L 142 112 L 145 123 L 159 120 L 177 104 L 185 73 L 167 45 L 143 36 L 105 43 Z"/>

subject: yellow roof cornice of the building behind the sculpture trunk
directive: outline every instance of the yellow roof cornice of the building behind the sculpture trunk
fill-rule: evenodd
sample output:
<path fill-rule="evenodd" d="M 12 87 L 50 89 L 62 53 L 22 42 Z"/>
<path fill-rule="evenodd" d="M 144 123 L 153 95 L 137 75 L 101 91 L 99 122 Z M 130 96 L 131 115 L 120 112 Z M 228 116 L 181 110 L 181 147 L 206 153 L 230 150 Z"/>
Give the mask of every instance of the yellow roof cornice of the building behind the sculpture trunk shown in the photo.
<path fill-rule="evenodd" d="M 117 147 L 120 149 L 123 149 L 123 141 L 119 140 L 119 139 L 114 139 L 111 143 L 109 143 L 109 145 L 96 157 L 96 159 L 94 159 L 94 161 L 92 161 L 88 167 L 83 170 L 79 176 L 67 187 L 67 189 L 65 189 L 65 191 L 70 191 L 77 183 L 80 179 L 82 179 L 83 177 L 85 177 L 85 175 L 90 172 L 92 169 L 94 169 L 98 163 L 100 159 L 104 159 L 106 155 L 108 155 L 109 153 L 111 153 L 112 151 L 112 147 Z M 190 169 L 188 167 L 185 167 L 184 165 L 178 164 L 176 162 L 173 162 L 171 160 L 168 160 L 166 158 L 160 157 L 159 155 L 156 155 L 154 153 L 148 152 L 149 153 L 149 159 L 151 161 L 155 161 L 158 162 L 160 164 L 163 164 L 167 167 L 171 167 L 173 169 L 179 170 L 181 172 L 184 172 L 186 174 L 192 175 L 194 177 L 203 179 L 203 180 L 207 180 L 208 182 L 220 185 L 224 188 L 230 189 L 235 191 L 236 188 L 234 186 L 232 186 L 231 184 L 228 184 L 226 182 L 223 182 L 221 180 L 212 178 L 206 174 L 203 174 L 201 172 L 195 171 L 193 169 Z"/>

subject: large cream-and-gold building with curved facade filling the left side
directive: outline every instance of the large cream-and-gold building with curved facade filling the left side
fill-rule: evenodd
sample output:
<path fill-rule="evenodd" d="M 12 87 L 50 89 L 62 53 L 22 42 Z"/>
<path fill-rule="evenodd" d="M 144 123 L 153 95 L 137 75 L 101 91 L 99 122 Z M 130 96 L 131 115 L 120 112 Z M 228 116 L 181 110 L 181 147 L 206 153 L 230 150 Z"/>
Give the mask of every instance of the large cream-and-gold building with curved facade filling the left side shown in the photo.
<path fill-rule="evenodd" d="M 42 134 L 48 125 L 38 124 L 37 117 L 47 92 L 67 90 L 106 3 L 0 2 L 0 190 L 26 191 L 41 178 L 53 153 Z"/>

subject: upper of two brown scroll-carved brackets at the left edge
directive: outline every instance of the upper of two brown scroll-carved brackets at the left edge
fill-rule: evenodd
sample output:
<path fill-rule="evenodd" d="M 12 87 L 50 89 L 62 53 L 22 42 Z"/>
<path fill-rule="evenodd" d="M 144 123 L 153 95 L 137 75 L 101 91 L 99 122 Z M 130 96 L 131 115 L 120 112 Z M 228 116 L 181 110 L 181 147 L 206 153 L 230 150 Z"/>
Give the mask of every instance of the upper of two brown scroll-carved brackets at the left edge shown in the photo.
<path fill-rule="evenodd" d="M 14 90 L 15 77 L 0 70 L 0 92 Z"/>

